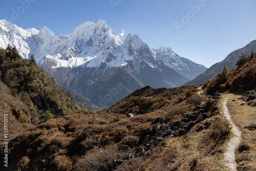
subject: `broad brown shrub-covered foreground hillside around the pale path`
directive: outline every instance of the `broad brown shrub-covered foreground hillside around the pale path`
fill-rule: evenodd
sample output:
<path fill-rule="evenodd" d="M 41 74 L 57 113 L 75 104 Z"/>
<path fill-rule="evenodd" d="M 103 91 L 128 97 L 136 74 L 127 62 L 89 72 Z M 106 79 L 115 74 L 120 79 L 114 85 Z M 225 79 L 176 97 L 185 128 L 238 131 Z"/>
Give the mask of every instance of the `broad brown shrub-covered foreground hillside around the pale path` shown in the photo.
<path fill-rule="evenodd" d="M 256 56 L 240 59 L 238 68 L 223 70 L 204 86 L 146 86 L 110 108 L 35 123 L 10 139 L 9 167 L 0 169 L 230 170 L 225 154 L 233 132 L 223 108 L 229 98 L 231 117 L 246 134 L 234 163 L 237 170 L 255 170 Z"/>

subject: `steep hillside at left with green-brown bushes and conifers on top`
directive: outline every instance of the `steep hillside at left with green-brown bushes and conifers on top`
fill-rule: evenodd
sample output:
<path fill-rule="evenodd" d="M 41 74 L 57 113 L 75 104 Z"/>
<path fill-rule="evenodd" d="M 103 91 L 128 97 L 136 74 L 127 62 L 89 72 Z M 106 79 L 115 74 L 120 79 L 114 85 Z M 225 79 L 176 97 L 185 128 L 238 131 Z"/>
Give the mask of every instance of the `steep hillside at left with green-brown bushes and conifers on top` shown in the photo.
<path fill-rule="evenodd" d="M 10 138 L 40 122 L 47 110 L 60 117 L 77 108 L 70 94 L 38 68 L 33 57 L 22 59 L 15 47 L 0 49 L 0 85 L 1 118 L 9 116 Z"/>

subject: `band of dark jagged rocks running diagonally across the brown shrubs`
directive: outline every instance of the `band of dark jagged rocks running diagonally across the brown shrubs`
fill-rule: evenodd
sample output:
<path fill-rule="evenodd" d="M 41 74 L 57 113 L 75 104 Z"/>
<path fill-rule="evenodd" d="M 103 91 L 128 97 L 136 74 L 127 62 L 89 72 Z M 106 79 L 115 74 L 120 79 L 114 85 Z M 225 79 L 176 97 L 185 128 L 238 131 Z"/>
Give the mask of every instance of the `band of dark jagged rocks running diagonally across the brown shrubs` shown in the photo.
<path fill-rule="evenodd" d="M 219 96 L 217 96 L 219 97 Z M 169 123 L 164 123 L 164 119 L 162 117 L 157 117 L 152 124 L 152 132 L 150 135 L 147 135 L 140 147 L 138 147 L 135 157 L 144 156 L 145 154 L 151 152 L 152 148 L 159 145 L 159 143 L 163 142 L 168 138 L 186 136 L 186 134 L 199 122 L 205 120 L 210 116 L 214 116 L 217 114 L 218 99 L 214 99 L 209 97 L 206 100 L 206 103 L 202 106 L 197 105 L 194 108 L 194 112 L 185 112 L 183 114 L 182 119 L 173 120 Z M 197 131 L 201 131 L 203 127 L 197 129 Z"/>

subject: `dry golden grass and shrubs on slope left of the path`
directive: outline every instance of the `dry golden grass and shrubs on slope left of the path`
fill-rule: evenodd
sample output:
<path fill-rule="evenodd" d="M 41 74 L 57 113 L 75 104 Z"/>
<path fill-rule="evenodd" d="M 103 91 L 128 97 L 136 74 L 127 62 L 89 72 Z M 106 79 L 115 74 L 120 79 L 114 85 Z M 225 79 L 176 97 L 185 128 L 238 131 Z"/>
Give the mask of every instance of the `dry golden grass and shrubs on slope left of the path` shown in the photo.
<path fill-rule="evenodd" d="M 218 103 L 221 105 L 221 102 Z M 170 138 L 150 154 L 119 170 L 228 170 L 222 163 L 230 127 L 219 112 L 196 124 L 187 135 Z"/>

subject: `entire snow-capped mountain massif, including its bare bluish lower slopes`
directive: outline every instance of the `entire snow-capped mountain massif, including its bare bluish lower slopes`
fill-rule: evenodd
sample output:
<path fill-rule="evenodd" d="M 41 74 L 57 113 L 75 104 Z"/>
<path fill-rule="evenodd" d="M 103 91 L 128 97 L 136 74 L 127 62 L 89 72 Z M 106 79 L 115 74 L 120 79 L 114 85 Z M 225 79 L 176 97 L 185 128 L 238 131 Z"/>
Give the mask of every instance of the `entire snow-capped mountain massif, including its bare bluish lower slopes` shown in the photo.
<path fill-rule="evenodd" d="M 8 44 L 24 58 L 34 55 L 37 65 L 58 84 L 100 106 L 147 85 L 180 86 L 206 70 L 170 48 L 151 49 L 137 35 L 122 39 L 104 20 L 84 23 L 60 36 L 46 27 L 23 30 L 0 20 L 0 48 Z"/>

